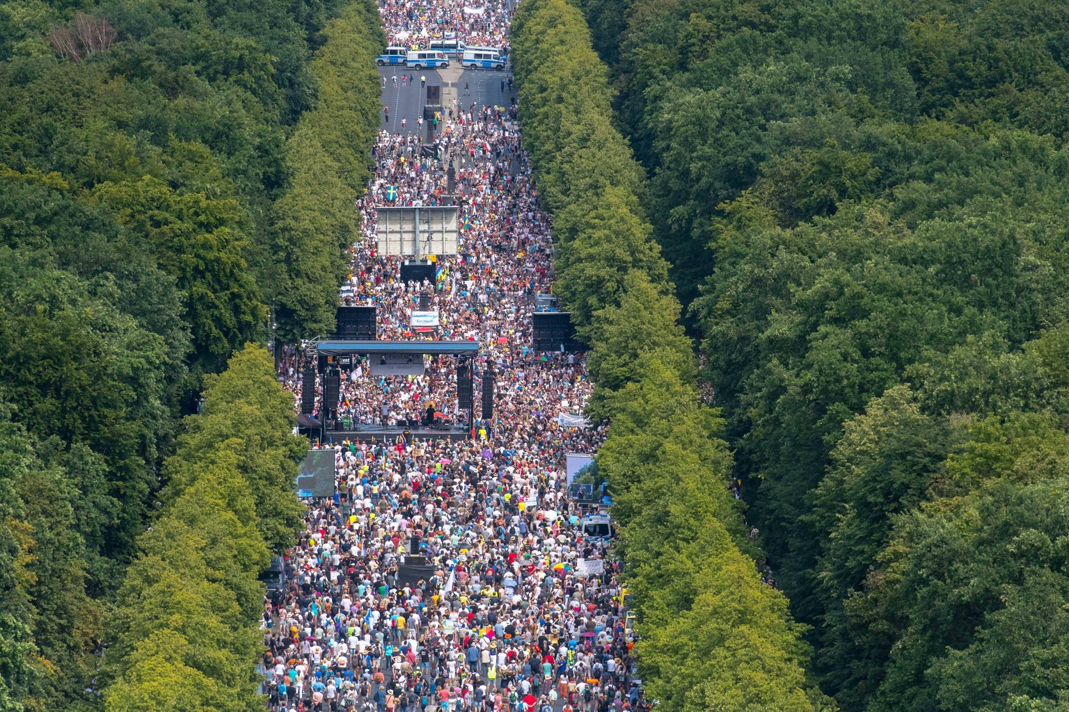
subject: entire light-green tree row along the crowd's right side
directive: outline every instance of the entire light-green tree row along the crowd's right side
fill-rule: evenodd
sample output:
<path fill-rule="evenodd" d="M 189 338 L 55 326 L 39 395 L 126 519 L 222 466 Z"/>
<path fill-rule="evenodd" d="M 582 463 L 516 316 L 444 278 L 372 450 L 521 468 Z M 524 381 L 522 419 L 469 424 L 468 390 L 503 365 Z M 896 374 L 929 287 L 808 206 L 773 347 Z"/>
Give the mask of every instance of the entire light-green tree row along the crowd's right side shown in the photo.
<path fill-rule="evenodd" d="M 525 0 L 512 47 L 524 142 L 554 220 L 554 288 L 592 346 L 588 412 L 613 424 L 598 466 L 636 595 L 647 692 L 669 712 L 826 709 L 807 680 L 804 629 L 762 584 L 728 491 L 724 422 L 699 399 L 642 171 L 614 127 L 586 21 L 564 0 Z"/>

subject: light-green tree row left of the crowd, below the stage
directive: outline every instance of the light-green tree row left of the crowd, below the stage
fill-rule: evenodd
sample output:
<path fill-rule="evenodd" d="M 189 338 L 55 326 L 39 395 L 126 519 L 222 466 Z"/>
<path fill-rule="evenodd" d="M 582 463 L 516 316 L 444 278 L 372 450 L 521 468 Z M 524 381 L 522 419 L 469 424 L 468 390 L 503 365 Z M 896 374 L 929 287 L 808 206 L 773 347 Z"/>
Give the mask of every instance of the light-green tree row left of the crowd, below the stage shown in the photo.
<path fill-rule="evenodd" d="M 205 381 L 108 619 L 108 712 L 263 709 L 257 577 L 301 523 L 294 487 L 308 441 L 293 434 L 293 396 L 262 347 Z"/>

